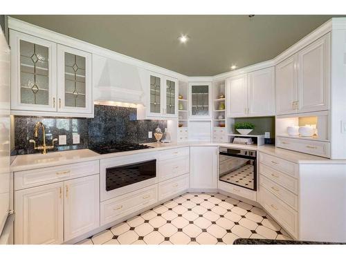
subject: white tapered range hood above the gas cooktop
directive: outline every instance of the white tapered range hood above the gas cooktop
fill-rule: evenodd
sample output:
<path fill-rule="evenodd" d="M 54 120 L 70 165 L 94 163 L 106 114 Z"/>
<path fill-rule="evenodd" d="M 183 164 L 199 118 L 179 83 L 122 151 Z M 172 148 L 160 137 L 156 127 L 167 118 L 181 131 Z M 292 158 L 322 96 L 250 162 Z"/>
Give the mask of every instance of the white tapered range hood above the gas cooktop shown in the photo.
<path fill-rule="evenodd" d="M 115 59 L 93 55 L 93 99 L 95 102 L 144 104 L 140 70 Z"/>

